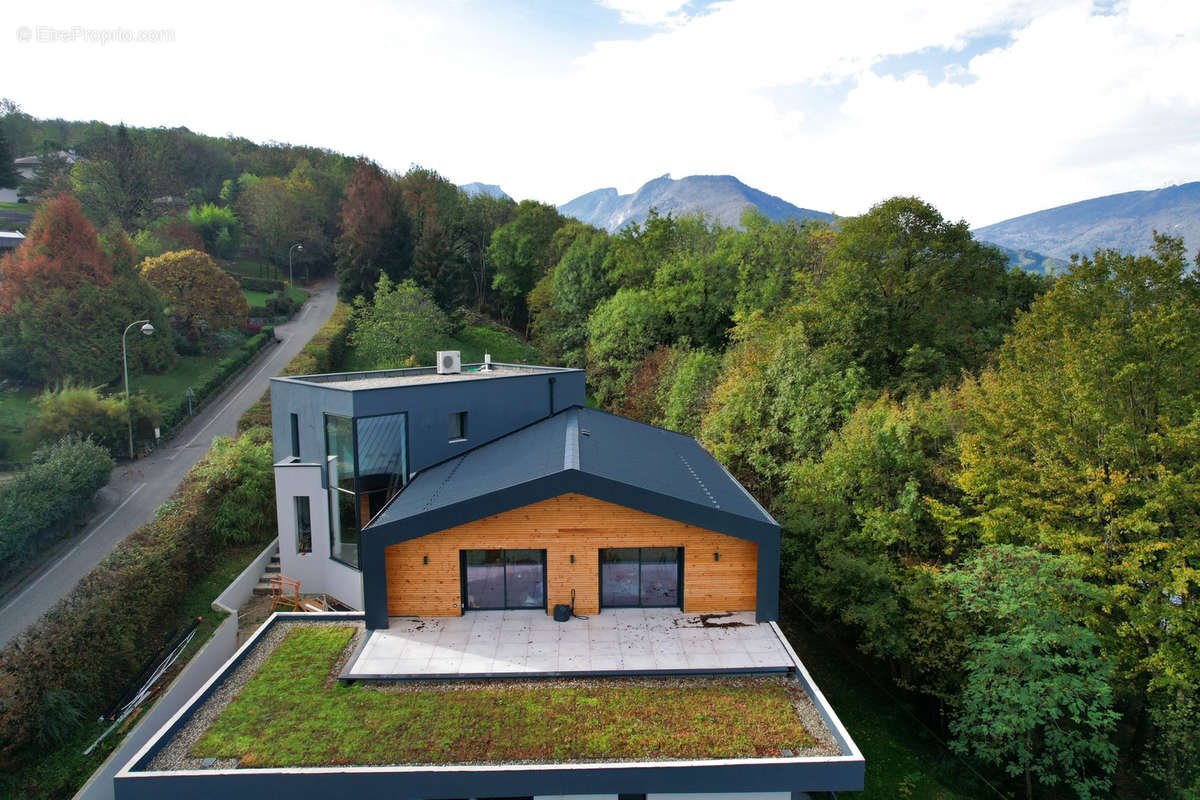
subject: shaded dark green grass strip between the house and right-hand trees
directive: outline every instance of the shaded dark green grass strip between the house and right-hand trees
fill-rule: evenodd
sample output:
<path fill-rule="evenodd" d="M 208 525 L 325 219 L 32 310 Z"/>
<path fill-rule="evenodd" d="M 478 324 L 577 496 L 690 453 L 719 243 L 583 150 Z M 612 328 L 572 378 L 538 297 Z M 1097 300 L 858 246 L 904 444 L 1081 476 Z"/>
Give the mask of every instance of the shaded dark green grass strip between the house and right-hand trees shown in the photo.
<path fill-rule="evenodd" d="M 866 656 L 827 636 L 798 612 L 780 626 L 866 759 L 862 800 L 1002 798 L 942 745 L 911 703 L 876 674 Z M 821 793 L 814 798 L 824 800 Z"/>

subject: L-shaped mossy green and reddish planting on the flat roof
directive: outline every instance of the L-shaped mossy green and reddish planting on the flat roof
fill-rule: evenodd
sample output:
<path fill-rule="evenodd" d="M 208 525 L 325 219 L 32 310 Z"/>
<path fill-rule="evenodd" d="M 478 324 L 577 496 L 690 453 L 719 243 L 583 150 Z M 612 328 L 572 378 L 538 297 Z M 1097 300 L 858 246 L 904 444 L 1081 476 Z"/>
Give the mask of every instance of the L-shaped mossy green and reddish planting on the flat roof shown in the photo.
<path fill-rule="evenodd" d="M 192 754 L 241 766 L 458 764 L 769 758 L 814 744 L 781 682 L 342 686 L 330 669 L 353 633 L 341 625 L 292 630 Z"/>

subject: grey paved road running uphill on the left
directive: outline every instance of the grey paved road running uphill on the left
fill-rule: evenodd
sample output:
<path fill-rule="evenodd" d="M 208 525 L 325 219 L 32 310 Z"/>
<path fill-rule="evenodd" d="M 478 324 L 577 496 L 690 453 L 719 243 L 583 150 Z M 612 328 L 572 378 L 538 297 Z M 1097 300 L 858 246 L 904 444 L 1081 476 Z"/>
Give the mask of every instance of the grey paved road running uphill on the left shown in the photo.
<path fill-rule="evenodd" d="M 92 522 L 74 540 L 66 542 L 70 549 L 0 599 L 0 646 L 71 591 L 118 542 L 150 522 L 187 470 L 209 451 L 214 437 L 236 431 L 238 417 L 263 396 L 270 378 L 325 324 L 336 301 L 336 284 L 332 281 L 323 283 L 292 321 L 275 329 L 282 344 L 263 350 L 174 439 L 146 458 L 113 470 L 108 486 L 100 491 Z"/>

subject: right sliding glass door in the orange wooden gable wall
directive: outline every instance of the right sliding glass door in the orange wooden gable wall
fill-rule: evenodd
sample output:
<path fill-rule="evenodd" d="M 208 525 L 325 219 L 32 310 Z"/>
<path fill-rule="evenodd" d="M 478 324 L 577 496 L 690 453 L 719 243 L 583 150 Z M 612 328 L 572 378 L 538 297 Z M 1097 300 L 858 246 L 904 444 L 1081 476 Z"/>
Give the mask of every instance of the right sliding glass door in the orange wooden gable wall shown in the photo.
<path fill-rule="evenodd" d="M 679 608 L 682 547 L 614 547 L 600 551 L 600 606 Z"/>

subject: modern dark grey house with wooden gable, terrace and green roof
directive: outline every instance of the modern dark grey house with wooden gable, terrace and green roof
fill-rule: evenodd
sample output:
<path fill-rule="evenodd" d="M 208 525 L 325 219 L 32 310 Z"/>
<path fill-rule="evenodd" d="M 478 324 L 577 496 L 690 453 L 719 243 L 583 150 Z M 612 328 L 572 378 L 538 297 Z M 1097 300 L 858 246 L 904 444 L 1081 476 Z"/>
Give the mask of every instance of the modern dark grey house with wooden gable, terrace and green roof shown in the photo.
<path fill-rule="evenodd" d="M 862 789 L 862 753 L 776 622 L 779 525 L 737 480 L 690 437 L 588 408 L 578 369 L 438 357 L 437 368 L 272 379 L 282 571 L 360 610 L 271 618 L 118 774 L 116 796 L 790 800 Z M 296 690 L 296 708 L 257 721 L 241 687 L 271 680 L 259 670 L 277 676 L 276 648 L 313 636 L 295 626 L 342 639 Z M 413 699 L 427 702 L 431 686 L 449 687 L 464 715 L 450 733 L 422 722 L 428 706 Z M 683 708 L 613 729 L 588 710 L 656 692 L 679 692 Z M 744 739 L 732 751 L 724 733 L 691 735 L 744 722 L 746 706 L 719 708 L 737 692 L 775 710 L 728 736 Z M 322 727 L 319 708 L 334 703 L 344 718 L 343 700 L 366 739 Z M 494 727 L 509 702 L 532 709 L 517 717 L 522 732 Z M 372 717 L 379 704 L 396 710 Z M 203 739 L 230 706 L 229 724 L 263 741 Z M 677 711 L 689 729 L 666 736 L 679 748 L 613 740 L 636 741 L 643 722 Z M 556 730 L 601 730 L 568 735 L 554 757 L 521 750 L 542 714 L 559 715 L 546 721 Z M 296 728 L 312 728 L 322 756 L 272 753 Z M 367 746 L 380 738 L 395 747 Z M 434 745 L 422 748 L 426 738 Z M 484 754 L 468 753 L 476 747 Z"/>

